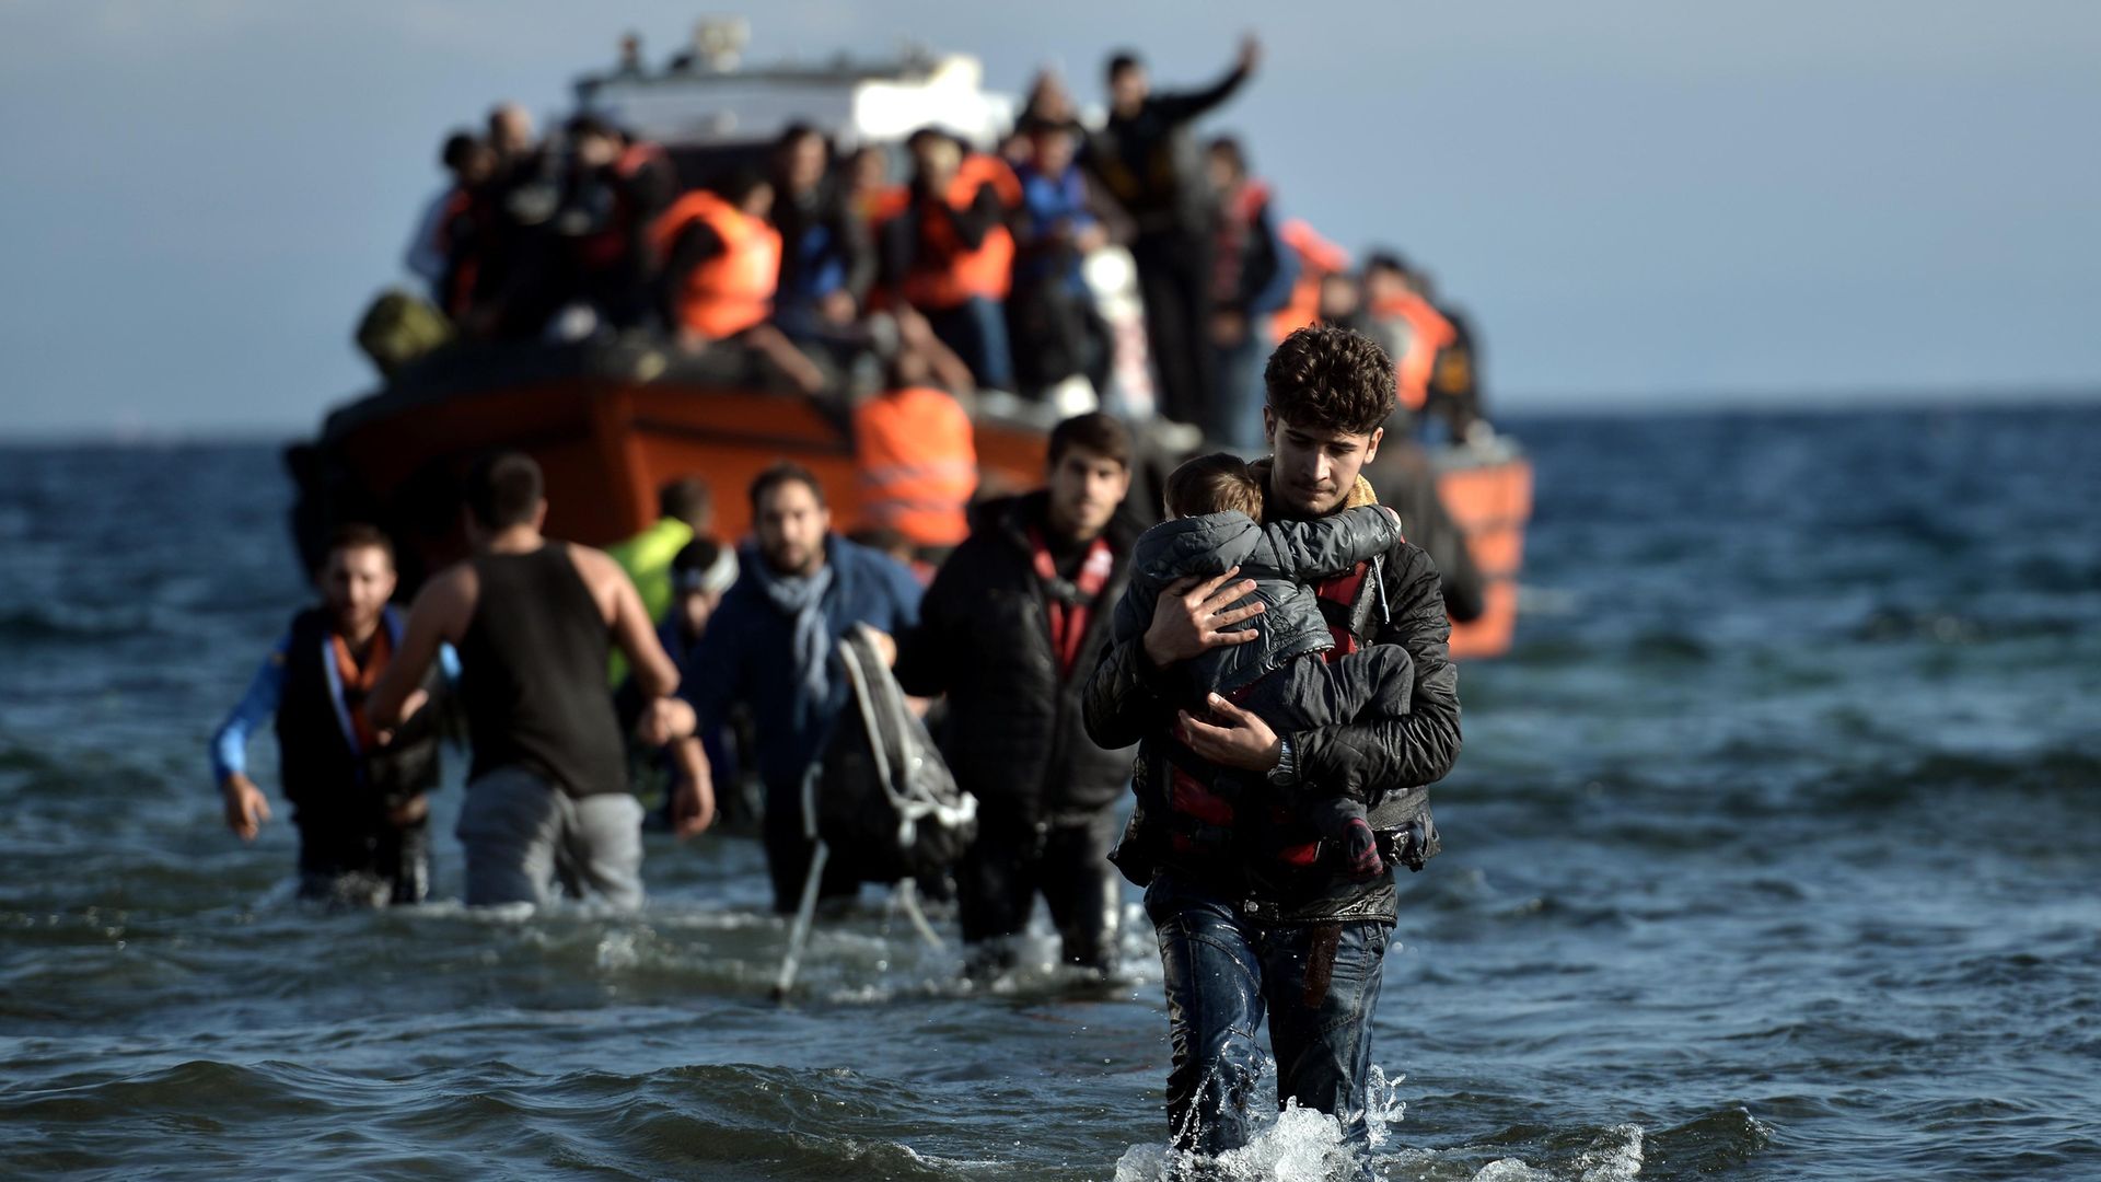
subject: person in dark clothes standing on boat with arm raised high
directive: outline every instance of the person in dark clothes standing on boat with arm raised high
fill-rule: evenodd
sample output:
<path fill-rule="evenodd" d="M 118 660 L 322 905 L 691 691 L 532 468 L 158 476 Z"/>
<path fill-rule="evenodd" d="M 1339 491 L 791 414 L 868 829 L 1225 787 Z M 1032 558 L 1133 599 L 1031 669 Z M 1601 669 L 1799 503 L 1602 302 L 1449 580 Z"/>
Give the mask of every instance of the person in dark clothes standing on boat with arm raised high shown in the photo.
<path fill-rule="evenodd" d="M 1212 398 L 1210 233 L 1214 198 L 1189 133 L 1254 74 L 1261 44 L 1240 44 L 1231 74 L 1204 90 L 1156 95 L 1135 53 L 1109 59 L 1109 122 L 1088 143 L 1088 166 L 1137 223 L 1130 257 L 1145 299 L 1145 339 L 1160 379 L 1160 412 L 1200 423 Z"/>

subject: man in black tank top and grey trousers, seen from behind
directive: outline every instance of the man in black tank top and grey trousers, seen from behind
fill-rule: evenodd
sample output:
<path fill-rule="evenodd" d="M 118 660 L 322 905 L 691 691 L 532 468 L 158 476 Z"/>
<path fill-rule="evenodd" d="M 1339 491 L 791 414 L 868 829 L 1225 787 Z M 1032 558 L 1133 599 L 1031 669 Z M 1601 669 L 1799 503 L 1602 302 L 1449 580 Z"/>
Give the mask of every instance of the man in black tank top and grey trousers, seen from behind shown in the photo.
<path fill-rule="evenodd" d="M 540 534 L 540 465 L 500 452 L 466 482 L 475 555 L 439 572 L 410 608 L 401 654 L 368 711 L 391 719 L 443 641 L 460 650 L 460 700 L 475 751 L 458 837 L 469 906 L 574 898 L 641 906 L 643 808 L 605 660 L 628 658 L 649 700 L 641 736 L 679 761 L 679 833 L 708 827 L 714 793 L 693 711 L 670 700 L 679 671 L 626 572 L 601 551 Z"/>

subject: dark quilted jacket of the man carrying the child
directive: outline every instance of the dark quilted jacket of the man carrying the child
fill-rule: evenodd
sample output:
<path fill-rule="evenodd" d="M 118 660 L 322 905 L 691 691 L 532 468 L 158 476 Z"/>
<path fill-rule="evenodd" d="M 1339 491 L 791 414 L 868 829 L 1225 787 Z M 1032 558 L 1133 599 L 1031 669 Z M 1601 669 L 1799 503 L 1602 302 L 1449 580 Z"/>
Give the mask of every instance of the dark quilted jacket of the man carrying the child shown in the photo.
<path fill-rule="evenodd" d="M 1277 498 L 1269 498 L 1277 505 Z M 1347 793 L 1372 810 L 1374 829 L 1387 829 L 1391 818 L 1412 818 L 1429 812 L 1424 784 L 1437 782 L 1458 757 L 1458 671 L 1452 667 L 1450 635 L 1437 566 L 1418 547 L 1395 543 L 1376 564 L 1378 578 L 1366 576 L 1351 606 L 1322 599 L 1330 625 L 1347 627 L 1366 644 L 1399 644 L 1416 663 L 1416 684 L 1410 713 L 1399 719 L 1378 719 L 1349 726 L 1326 726 L 1286 734 L 1298 757 L 1305 795 Z M 1174 869 L 1187 881 L 1235 902 L 1235 911 L 1267 923 L 1319 923 L 1330 919 L 1395 917 L 1391 875 L 1351 879 L 1343 871 L 1313 867 L 1292 869 L 1261 854 L 1280 841 L 1317 837 L 1311 822 L 1294 822 L 1305 833 L 1277 835 L 1269 831 L 1261 810 L 1240 810 L 1246 818 L 1235 841 L 1246 850 L 1225 856 L 1174 856 L 1168 852 L 1166 757 L 1168 728 L 1174 721 L 1174 679 L 1153 669 L 1145 641 L 1132 637 L 1103 652 L 1095 677 L 1086 686 L 1086 732 L 1105 747 L 1139 742 L 1135 789 L 1139 812 L 1124 835 L 1137 843 L 1143 860 Z M 1242 776 L 1246 778 L 1246 776 Z M 1385 806 L 1385 808 L 1380 808 Z M 1258 833 L 1261 831 L 1261 833 Z M 1120 864 L 1126 860 L 1118 850 Z"/>

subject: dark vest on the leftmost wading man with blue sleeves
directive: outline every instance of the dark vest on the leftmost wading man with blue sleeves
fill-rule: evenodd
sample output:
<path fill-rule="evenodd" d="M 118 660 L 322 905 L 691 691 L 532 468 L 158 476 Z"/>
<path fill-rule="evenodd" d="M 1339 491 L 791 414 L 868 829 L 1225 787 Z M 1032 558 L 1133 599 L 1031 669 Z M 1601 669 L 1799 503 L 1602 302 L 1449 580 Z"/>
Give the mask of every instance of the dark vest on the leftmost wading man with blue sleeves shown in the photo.
<path fill-rule="evenodd" d="M 387 608 L 380 629 L 399 652 L 401 614 Z M 336 671 L 334 625 L 324 608 L 292 618 L 284 692 L 277 698 L 277 768 L 284 795 L 309 818 L 372 818 L 382 808 L 437 789 L 437 730 L 401 732 L 387 747 L 368 749 L 357 738 L 353 700 Z M 424 690 L 441 690 L 441 673 L 424 675 Z"/>

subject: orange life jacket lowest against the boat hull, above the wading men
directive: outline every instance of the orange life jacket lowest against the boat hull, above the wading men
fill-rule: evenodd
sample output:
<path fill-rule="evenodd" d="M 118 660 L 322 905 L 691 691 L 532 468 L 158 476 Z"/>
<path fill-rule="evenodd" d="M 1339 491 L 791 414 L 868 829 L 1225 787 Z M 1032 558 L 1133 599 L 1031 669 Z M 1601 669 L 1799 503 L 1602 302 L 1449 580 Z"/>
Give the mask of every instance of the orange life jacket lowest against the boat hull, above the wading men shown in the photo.
<path fill-rule="evenodd" d="M 922 547 L 971 536 L 964 507 L 977 492 L 971 416 L 939 389 L 870 398 L 853 412 L 861 522 L 889 526 Z"/>

